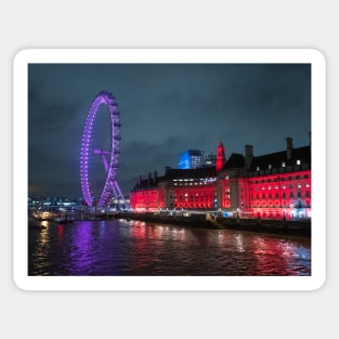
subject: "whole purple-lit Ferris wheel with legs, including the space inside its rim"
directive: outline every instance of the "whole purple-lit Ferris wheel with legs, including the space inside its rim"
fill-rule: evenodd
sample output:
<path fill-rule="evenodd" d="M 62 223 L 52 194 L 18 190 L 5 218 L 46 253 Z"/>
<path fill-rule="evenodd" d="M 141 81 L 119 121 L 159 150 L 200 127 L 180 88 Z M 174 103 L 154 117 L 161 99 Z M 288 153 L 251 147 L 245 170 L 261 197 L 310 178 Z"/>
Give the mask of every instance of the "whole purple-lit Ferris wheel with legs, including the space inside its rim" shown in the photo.
<path fill-rule="evenodd" d="M 103 110 L 103 106 L 106 106 L 104 107 L 106 109 Z M 83 198 L 90 207 L 107 206 L 110 194 L 117 201 L 119 199 L 123 201 L 123 195 L 116 180 L 121 141 L 117 106 L 115 97 L 109 92 L 101 91 L 93 100 L 87 115 L 80 153 L 80 180 Z M 100 118 L 105 118 L 102 127 L 97 127 L 96 123 Z M 105 139 L 106 143 L 103 142 Z M 93 165 L 95 161 L 100 162 L 97 165 L 101 168 L 97 168 L 97 165 L 95 168 Z"/>

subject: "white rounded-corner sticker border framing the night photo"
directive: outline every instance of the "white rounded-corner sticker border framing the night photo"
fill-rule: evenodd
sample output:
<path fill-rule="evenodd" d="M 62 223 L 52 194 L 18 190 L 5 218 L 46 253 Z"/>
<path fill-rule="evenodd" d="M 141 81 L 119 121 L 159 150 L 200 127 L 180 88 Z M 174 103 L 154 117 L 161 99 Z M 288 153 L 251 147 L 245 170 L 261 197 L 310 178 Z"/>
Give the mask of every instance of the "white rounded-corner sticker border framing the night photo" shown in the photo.
<path fill-rule="evenodd" d="M 29 63 L 311 63 L 312 276 L 27 276 Z M 326 278 L 326 62 L 311 49 L 29 49 L 13 61 L 13 278 L 24 290 L 315 290 Z M 316 142 L 313 142 L 316 141 Z"/>

